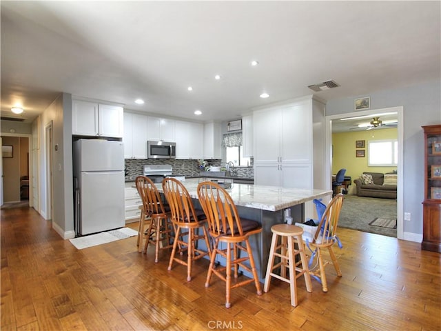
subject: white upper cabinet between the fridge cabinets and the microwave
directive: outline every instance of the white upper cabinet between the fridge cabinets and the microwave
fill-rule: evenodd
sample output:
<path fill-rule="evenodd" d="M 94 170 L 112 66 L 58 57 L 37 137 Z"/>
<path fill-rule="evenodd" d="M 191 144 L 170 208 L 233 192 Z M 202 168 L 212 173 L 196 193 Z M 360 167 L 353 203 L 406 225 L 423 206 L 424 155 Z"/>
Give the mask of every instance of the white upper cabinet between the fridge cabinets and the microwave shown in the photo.
<path fill-rule="evenodd" d="M 147 159 L 147 116 L 124 112 L 124 158 Z"/>

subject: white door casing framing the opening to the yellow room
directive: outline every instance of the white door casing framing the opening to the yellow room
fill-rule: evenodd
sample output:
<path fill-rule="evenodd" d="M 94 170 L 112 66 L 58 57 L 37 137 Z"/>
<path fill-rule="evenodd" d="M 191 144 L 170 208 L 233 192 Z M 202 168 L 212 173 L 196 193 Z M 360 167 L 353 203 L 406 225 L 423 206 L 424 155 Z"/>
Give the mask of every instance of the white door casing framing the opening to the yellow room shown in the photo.
<path fill-rule="evenodd" d="M 345 114 L 331 115 L 326 117 L 327 126 L 326 126 L 326 137 L 327 137 L 327 159 L 329 160 L 329 165 L 327 167 L 327 175 L 329 176 L 329 182 L 331 182 L 332 175 L 332 122 L 340 120 L 342 118 L 348 117 L 360 117 L 360 116 L 371 116 L 377 114 L 387 114 L 395 112 L 397 115 L 398 123 L 398 164 L 397 164 L 397 178 L 398 178 L 398 189 L 397 189 L 397 238 L 403 239 L 404 231 L 403 231 L 403 193 L 402 193 L 402 155 L 403 155 L 403 108 L 393 107 L 393 108 L 382 108 L 376 110 L 365 110 L 360 112 L 350 112 Z"/>

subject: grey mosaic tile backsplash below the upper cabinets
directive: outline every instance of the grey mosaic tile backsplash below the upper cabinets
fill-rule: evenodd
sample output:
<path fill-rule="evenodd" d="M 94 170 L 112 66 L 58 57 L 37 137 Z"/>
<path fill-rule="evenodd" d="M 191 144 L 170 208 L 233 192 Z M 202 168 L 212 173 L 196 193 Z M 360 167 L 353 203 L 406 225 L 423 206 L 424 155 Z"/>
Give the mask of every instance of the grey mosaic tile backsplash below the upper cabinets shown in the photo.
<path fill-rule="evenodd" d="M 206 160 L 209 165 L 225 165 L 221 159 Z M 198 177 L 198 160 L 165 160 L 165 159 L 125 159 L 125 175 L 139 176 L 143 174 L 145 164 L 170 164 L 175 176 Z M 240 177 L 254 178 L 253 167 L 236 167 Z"/>

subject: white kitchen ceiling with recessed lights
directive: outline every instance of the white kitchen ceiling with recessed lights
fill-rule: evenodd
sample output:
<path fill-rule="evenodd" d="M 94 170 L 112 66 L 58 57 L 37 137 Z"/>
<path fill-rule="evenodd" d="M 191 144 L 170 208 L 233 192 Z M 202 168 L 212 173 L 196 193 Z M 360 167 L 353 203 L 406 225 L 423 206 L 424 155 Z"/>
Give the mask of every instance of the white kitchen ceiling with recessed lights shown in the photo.
<path fill-rule="evenodd" d="M 1 114 L 59 92 L 201 121 L 365 96 L 440 79 L 440 22 L 440 1 L 1 1 Z"/>

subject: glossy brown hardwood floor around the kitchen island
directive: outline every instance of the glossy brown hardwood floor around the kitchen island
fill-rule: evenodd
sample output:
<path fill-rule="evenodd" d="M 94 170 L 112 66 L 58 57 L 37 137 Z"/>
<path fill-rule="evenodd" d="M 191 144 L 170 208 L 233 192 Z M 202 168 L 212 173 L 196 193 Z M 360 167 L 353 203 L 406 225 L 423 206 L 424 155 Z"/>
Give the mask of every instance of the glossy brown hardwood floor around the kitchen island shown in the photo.
<path fill-rule="evenodd" d="M 136 228 L 137 223 L 132 223 Z M 440 257 L 420 243 L 348 229 L 336 248 L 342 278 L 327 267 L 329 292 L 298 279 L 298 306 L 287 283 L 232 290 L 204 287 L 208 261 L 167 271 L 136 237 L 76 250 L 32 208 L 1 210 L 1 330 L 440 330 Z"/>

